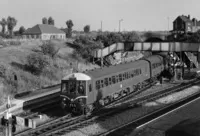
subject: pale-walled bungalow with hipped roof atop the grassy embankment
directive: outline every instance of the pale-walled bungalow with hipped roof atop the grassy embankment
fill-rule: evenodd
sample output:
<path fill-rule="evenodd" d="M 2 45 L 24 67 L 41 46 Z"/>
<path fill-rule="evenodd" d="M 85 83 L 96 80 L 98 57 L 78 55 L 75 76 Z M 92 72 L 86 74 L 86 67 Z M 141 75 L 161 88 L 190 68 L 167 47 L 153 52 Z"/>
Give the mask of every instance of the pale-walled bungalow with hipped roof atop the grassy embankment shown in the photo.
<path fill-rule="evenodd" d="M 65 32 L 53 25 L 37 24 L 23 33 L 25 39 L 65 39 Z"/>

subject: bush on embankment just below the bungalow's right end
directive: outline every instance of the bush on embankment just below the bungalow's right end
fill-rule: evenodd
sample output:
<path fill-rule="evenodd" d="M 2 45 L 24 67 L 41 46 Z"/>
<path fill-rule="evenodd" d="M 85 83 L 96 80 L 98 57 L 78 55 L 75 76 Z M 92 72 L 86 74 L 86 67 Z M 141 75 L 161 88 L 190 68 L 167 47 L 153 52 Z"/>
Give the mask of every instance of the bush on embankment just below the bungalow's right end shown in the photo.
<path fill-rule="evenodd" d="M 58 47 L 56 43 L 52 41 L 44 42 L 40 47 L 44 55 L 49 55 L 52 58 L 55 57 L 55 55 L 58 53 L 60 49 L 60 47 Z"/>

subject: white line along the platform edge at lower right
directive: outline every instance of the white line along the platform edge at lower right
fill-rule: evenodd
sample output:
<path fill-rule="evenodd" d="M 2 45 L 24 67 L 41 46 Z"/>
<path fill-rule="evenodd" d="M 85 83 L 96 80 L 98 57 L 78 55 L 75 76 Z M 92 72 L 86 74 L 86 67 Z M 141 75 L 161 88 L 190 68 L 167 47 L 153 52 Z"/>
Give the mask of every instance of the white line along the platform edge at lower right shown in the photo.
<path fill-rule="evenodd" d="M 178 110 L 178 109 L 180 109 L 180 108 L 182 108 L 182 107 L 184 107 L 184 106 L 187 106 L 188 104 L 193 103 L 193 102 L 196 101 L 197 99 L 200 99 L 200 97 L 198 97 L 198 98 L 196 98 L 196 99 L 194 99 L 194 100 L 192 100 L 192 101 L 190 101 L 190 102 L 188 102 L 188 103 L 186 103 L 186 104 L 184 104 L 184 105 L 182 105 L 182 106 L 180 106 L 180 107 L 178 107 L 178 108 L 176 108 L 176 109 L 173 109 L 173 110 L 171 110 L 171 111 L 169 111 L 169 112 L 167 112 L 167 113 L 165 113 L 165 114 L 163 114 L 163 115 L 161 115 L 161 116 L 159 116 L 159 117 L 157 117 L 157 118 L 155 118 L 155 119 L 153 119 L 153 120 L 151 120 L 151 121 L 148 121 L 148 122 L 146 122 L 146 123 L 144 123 L 144 124 L 142 124 L 142 125 L 136 127 L 136 129 L 139 129 L 139 128 L 141 128 L 141 127 L 143 127 L 143 126 L 145 126 L 145 125 L 147 125 L 147 124 L 149 124 L 149 123 L 151 123 L 151 122 L 154 122 L 154 121 L 157 120 L 157 119 L 160 119 L 160 118 L 163 117 L 163 116 L 166 116 L 167 114 L 170 114 L 170 113 L 172 113 L 172 112 L 174 112 L 174 111 L 176 111 L 176 110 Z"/>

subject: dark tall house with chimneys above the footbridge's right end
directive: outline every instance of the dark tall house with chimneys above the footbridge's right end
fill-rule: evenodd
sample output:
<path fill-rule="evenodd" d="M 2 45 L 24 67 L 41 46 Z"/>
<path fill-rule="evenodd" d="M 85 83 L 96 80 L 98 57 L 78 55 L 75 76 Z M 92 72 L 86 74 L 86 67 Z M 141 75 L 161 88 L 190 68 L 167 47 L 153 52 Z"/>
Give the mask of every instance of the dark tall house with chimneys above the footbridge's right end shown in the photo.
<path fill-rule="evenodd" d="M 175 33 L 194 33 L 200 29 L 200 21 L 193 18 L 190 19 L 190 15 L 188 16 L 178 16 L 173 21 L 173 32 Z"/>

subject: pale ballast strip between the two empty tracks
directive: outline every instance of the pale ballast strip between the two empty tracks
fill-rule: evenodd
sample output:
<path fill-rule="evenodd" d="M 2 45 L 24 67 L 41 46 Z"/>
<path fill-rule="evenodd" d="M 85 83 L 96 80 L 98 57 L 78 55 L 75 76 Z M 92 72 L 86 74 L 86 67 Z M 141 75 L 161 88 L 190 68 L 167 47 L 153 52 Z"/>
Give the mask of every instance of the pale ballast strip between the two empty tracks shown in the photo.
<path fill-rule="evenodd" d="M 103 132 L 106 132 L 107 130 L 113 129 L 117 126 L 121 126 L 124 123 L 130 122 L 131 120 L 141 117 L 149 112 L 155 111 L 156 109 L 159 109 L 166 104 L 173 103 L 184 97 L 194 94 L 198 91 L 200 91 L 200 87 L 193 86 L 193 87 L 185 89 L 183 91 L 176 92 L 174 94 L 165 96 L 163 98 L 159 98 L 155 101 L 145 103 L 141 107 L 137 107 L 137 108 L 133 108 L 133 109 L 124 111 L 120 114 L 116 114 L 112 117 L 97 121 L 97 122 L 87 125 L 83 128 L 74 130 L 70 133 L 63 134 L 63 136 L 92 136 L 92 135 L 96 135 L 99 133 L 103 133 Z M 155 133 L 155 135 L 157 135 L 157 136 L 162 136 L 162 132 L 156 132 L 156 130 L 152 130 L 152 129 L 146 129 L 144 131 L 144 134 L 142 134 L 142 132 L 141 132 L 138 134 L 138 136 L 146 136 L 145 134 L 148 134 L 148 130 L 151 133 Z M 158 133 L 158 134 L 156 134 L 156 133 Z"/>

